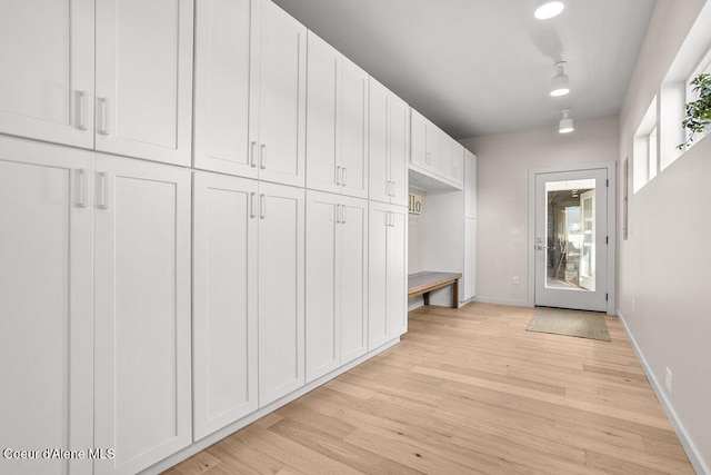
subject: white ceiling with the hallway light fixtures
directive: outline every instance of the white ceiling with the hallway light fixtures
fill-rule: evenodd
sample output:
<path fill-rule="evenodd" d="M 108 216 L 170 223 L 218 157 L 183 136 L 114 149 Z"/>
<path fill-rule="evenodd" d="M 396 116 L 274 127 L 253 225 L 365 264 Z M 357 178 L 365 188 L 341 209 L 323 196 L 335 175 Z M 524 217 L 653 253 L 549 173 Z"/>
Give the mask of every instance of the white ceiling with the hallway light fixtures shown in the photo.
<path fill-rule="evenodd" d="M 619 112 L 655 0 L 563 1 L 537 20 L 534 0 L 274 0 L 457 139 Z"/>

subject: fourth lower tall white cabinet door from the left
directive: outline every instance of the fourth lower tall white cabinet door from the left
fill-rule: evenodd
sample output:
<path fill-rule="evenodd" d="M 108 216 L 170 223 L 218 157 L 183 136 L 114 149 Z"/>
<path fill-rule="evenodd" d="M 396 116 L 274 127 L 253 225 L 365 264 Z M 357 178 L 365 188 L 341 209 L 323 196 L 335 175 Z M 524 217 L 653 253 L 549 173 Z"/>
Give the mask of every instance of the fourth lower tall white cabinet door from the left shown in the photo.
<path fill-rule="evenodd" d="M 260 184 L 259 405 L 304 384 L 303 189 Z"/>

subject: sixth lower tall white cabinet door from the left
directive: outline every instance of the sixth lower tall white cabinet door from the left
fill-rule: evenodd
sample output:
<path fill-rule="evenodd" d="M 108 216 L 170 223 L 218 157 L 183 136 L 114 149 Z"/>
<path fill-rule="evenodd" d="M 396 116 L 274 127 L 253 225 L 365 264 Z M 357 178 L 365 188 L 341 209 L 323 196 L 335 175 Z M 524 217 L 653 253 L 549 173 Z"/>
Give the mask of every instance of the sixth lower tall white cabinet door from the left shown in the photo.
<path fill-rule="evenodd" d="M 368 350 L 368 201 L 341 200 L 340 342 L 341 365 Z"/>

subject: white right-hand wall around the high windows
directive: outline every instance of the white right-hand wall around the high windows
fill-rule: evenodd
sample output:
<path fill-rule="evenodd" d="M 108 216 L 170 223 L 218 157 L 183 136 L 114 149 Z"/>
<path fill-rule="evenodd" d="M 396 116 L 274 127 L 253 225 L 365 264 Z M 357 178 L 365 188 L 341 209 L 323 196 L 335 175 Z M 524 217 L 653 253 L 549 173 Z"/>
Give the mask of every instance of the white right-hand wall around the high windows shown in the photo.
<path fill-rule="evenodd" d="M 710 1 L 658 1 L 620 113 L 620 160 L 629 156 L 632 164 L 634 131 L 664 77 L 674 76 L 670 67 L 678 72 L 688 48 L 678 51 L 689 46 L 684 39 L 702 7 L 701 31 L 711 31 Z M 693 58 L 687 69 L 691 65 Z M 630 196 L 631 234 L 618 250 L 619 314 L 699 473 L 710 473 L 711 464 L 710 178 L 705 138 Z M 672 394 L 664 388 L 667 367 Z"/>

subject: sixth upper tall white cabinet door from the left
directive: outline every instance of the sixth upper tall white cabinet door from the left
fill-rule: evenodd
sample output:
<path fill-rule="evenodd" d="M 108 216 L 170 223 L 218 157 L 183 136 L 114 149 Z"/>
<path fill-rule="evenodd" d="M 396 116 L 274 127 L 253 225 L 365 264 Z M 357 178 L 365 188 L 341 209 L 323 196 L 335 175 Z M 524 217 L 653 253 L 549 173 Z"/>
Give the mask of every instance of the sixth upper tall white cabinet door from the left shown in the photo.
<path fill-rule="evenodd" d="M 341 57 L 339 140 L 344 195 L 368 198 L 368 73 Z"/>

